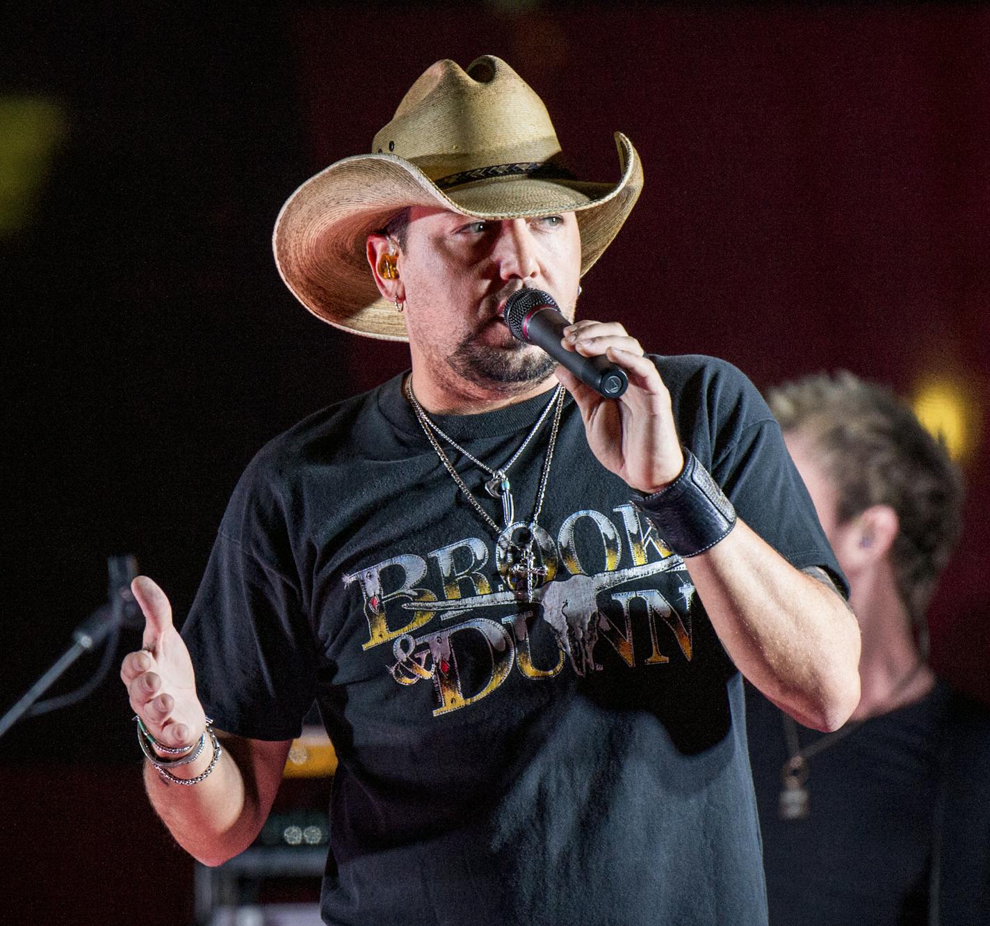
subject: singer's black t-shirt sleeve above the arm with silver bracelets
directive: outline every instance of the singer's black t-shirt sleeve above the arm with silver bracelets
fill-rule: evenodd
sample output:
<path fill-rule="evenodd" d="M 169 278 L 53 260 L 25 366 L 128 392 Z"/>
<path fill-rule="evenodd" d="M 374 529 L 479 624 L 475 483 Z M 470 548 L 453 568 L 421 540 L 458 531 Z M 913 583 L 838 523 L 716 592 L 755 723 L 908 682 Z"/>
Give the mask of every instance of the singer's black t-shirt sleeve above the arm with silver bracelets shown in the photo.
<path fill-rule="evenodd" d="M 316 648 L 281 515 L 249 467 L 182 628 L 207 716 L 257 740 L 298 736 L 315 696 Z"/>

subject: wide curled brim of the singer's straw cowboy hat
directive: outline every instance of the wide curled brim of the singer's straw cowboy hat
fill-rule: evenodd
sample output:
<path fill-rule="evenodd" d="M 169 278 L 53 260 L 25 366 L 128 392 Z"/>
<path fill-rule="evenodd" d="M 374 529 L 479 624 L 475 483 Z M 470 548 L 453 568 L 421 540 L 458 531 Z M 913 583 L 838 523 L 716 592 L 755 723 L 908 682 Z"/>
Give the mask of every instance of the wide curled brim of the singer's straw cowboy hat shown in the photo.
<path fill-rule="evenodd" d="M 576 213 L 581 274 L 601 257 L 643 188 L 633 144 L 616 133 L 618 183 L 504 176 L 444 192 L 415 164 L 394 154 L 345 157 L 302 184 L 278 214 L 272 247 L 286 286 L 310 312 L 337 328 L 408 341 L 404 317 L 375 286 L 367 236 L 409 206 L 499 220 Z"/>

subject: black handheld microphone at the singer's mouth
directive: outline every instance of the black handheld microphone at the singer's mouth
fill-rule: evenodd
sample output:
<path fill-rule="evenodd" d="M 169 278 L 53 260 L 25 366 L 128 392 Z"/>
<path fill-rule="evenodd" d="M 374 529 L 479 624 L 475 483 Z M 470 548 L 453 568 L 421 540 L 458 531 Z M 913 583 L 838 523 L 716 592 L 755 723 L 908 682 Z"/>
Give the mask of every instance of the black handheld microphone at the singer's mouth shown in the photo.
<path fill-rule="evenodd" d="M 570 322 L 560 314 L 548 292 L 540 289 L 517 290 L 505 300 L 502 317 L 514 338 L 543 348 L 553 360 L 607 399 L 618 398 L 629 386 L 626 371 L 604 355 L 582 357 L 560 344 L 561 332 Z"/>

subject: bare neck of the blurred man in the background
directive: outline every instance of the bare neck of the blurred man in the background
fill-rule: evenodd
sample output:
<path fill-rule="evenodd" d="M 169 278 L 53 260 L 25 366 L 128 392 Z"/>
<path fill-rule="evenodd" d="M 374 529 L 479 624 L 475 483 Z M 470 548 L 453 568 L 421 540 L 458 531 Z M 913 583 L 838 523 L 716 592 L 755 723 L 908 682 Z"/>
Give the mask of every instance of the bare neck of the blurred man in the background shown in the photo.
<path fill-rule="evenodd" d="M 892 576 L 857 577 L 849 603 L 859 617 L 859 704 L 851 720 L 886 714 L 923 698 L 935 673 L 923 664 Z"/>

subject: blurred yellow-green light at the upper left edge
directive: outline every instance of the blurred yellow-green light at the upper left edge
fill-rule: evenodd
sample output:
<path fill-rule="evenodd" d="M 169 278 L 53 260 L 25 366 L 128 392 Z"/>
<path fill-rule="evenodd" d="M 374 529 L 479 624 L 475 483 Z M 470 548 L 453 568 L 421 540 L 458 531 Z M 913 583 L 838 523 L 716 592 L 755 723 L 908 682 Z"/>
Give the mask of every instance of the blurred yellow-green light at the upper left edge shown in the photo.
<path fill-rule="evenodd" d="M 66 124 L 53 100 L 0 96 L 0 237 L 27 225 Z"/>

